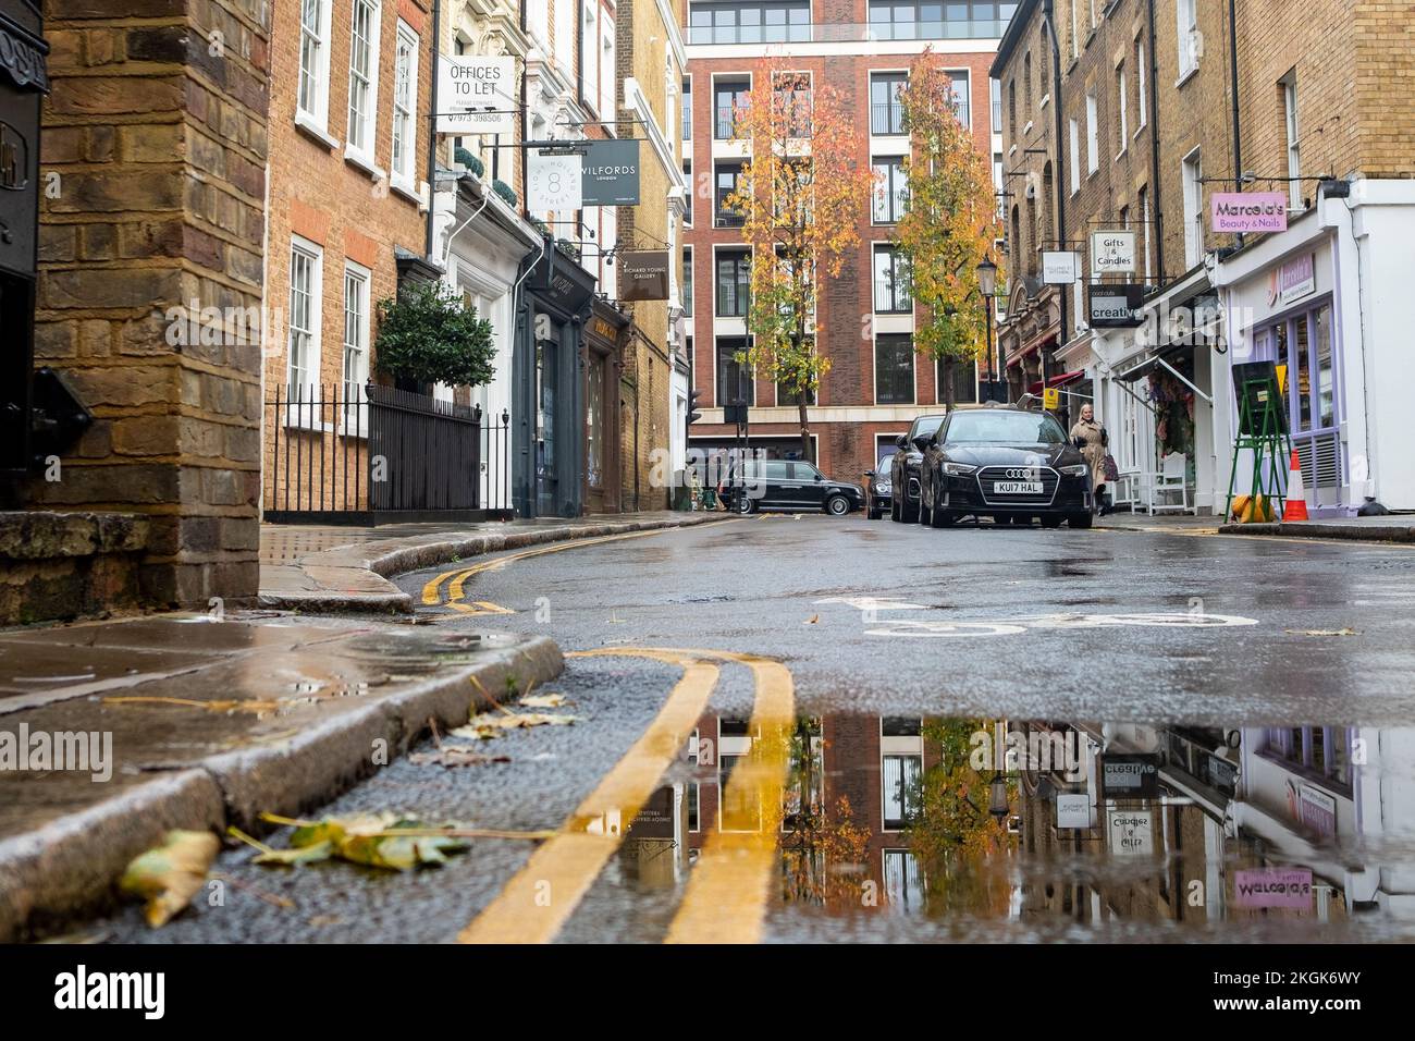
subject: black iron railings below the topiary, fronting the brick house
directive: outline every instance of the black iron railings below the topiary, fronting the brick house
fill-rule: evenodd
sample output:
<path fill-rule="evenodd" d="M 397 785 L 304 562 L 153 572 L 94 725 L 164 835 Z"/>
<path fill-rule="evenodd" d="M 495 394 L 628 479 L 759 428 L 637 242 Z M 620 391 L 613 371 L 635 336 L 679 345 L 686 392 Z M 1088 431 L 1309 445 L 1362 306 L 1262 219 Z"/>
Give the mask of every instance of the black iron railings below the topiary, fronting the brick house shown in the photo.
<path fill-rule="evenodd" d="M 509 415 L 376 384 L 276 387 L 265 517 L 379 524 L 511 511 Z"/>

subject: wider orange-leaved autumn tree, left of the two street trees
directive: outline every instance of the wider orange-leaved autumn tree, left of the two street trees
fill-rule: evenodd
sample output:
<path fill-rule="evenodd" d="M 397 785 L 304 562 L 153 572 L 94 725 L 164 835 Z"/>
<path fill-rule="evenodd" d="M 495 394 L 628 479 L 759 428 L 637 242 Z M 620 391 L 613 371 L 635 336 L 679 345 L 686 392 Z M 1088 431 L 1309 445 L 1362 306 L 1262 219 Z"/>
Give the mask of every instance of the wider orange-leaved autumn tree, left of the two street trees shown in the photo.
<path fill-rule="evenodd" d="M 873 173 L 857 157 L 853 105 L 828 85 L 812 85 L 809 74 L 770 61 L 734 109 L 733 139 L 750 149 L 722 203 L 751 246 L 750 340 L 737 361 L 797 404 L 801 457 L 814 460 L 807 406 L 831 368 L 816 302 L 859 244 Z"/>

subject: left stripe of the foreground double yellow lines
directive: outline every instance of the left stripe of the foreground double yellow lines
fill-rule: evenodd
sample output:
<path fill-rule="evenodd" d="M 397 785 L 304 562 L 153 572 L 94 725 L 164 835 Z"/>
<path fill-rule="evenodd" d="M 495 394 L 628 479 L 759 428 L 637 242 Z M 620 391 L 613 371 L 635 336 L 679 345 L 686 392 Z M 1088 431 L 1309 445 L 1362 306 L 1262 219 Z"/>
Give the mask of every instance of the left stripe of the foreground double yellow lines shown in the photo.
<path fill-rule="evenodd" d="M 555 939 L 620 847 L 620 834 L 589 829 L 611 810 L 618 810 L 625 824 L 638 816 L 717 686 L 717 666 L 695 660 L 692 652 L 624 649 L 608 653 L 681 664 L 683 676 L 634 746 L 580 803 L 560 834 L 531 854 L 526 865 L 461 931 L 460 943 L 548 943 Z"/>

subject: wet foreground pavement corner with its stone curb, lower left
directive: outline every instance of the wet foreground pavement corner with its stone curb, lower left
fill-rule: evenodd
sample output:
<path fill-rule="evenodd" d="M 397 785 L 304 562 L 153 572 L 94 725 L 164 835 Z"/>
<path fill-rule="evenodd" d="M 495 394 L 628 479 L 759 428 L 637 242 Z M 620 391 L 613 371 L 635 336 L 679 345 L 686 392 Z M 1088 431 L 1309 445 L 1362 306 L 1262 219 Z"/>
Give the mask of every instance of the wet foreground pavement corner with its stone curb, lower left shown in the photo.
<path fill-rule="evenodd" d="M 260 830 L 262 812 L 300 813 L 388 765 L 429 719 L 458 727 L 560 669 L 541 636 L 347 619 L 0 635 L 0 676 L 25 678 L 0 687 L 0 942 L 106 904 L 171 827 Z"/>

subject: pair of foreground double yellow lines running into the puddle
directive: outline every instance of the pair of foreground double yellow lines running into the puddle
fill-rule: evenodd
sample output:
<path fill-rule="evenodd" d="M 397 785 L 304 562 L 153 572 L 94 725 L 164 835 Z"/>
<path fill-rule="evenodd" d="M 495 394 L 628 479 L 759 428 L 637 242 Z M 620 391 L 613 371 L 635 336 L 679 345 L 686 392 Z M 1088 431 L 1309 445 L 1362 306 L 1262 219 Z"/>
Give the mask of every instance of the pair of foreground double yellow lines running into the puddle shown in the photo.
<path fill-rule="evenodd" d="M 541 846 L 501 894 L 457 936 L 461 943 L 546 943 L 574 914 L 590 885 L 623 843 L 597 827 L 614 810 L 633 821 L 658 787 L 664 772 L 692 735 L 717 686 L 709 660 L 751 669 L 756 680 L 751 755 L 733 768 L 722 803 L 758 802 L 757 831 L 708 838 L 689 875 L 683 899 L 668 929 L 669 943 L 754 943 L 760 939 L 771 880 L 788 765 L 795 693 L 780 661 L 720 650 L 616 647 L 574 652 L 569 657 L 631 656 L 681 666 L 682 678 L 634 746 L 570 814 L 560 833 Z"/>

